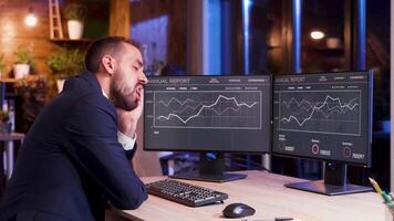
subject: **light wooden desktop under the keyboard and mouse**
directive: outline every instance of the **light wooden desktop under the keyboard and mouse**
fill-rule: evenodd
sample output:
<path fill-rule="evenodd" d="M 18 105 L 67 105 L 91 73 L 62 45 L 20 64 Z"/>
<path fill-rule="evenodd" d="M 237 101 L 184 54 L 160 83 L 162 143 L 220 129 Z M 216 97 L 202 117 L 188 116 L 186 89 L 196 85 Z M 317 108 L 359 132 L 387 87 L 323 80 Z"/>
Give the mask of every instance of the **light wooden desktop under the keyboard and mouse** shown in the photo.
<path fill-rule="evenodd" d="M 151 196 L 137 210 L 113 210 L 131 220 L 273 220 L 292 217 L 294 221 L 384 221 L 385 207 L 374 192 L 326 197 L 284 188 L 283 183 L 302 181 L 261 171 L 245 171 L 247 179 L 214 183 L 183 180 L 229 194 L 225 203 L 190 208 Z M 165 177 L 143 178 L 151 182 Z M 242 219 L 225 219 L 221 211 L 232 202 L 243 202 L 256 209 L 256 214 Z"/>

